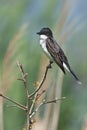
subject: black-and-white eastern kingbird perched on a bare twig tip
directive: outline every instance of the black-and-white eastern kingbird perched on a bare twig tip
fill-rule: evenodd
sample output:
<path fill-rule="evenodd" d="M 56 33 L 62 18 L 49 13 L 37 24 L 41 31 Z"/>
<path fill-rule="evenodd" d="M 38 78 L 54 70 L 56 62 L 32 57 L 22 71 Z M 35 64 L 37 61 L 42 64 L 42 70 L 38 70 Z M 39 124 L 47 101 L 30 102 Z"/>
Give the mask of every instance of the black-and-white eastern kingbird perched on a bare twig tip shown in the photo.
<path fill-rule="evenodd" d="M 74 78 L 77 80 L 79 84 L 81 84 L 78 77 L 72 71 L 68 59 L 65 56 L 61 47 L 57 44 L 57 42 L 53 38 L 53 33 L 50 28 L 42 28 L 37 34 L 40 36 L 40 46 L 42 47 L 43 51 L 50 59 L 51 62 L 54 62 L 61 68 L 63 73 L 65 74 L 65 70 L 70 72 Z"/>

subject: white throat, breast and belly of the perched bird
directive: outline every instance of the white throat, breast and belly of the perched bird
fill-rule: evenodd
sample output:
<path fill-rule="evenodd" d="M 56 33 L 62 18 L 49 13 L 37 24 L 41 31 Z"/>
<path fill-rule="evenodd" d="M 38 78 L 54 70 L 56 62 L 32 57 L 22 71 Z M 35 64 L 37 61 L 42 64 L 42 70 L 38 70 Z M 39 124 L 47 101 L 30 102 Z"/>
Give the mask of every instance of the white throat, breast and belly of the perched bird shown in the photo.
<path fill-rule="evenodd" d="M 52 59 L 50 53 L 48 52 L 47 48 L 46 48 L 46 39 L 48 37 L 46 35 L 40 35 L 40 46 L 42 47 L 43 51 L 45 52 L 45 54 Z"/>

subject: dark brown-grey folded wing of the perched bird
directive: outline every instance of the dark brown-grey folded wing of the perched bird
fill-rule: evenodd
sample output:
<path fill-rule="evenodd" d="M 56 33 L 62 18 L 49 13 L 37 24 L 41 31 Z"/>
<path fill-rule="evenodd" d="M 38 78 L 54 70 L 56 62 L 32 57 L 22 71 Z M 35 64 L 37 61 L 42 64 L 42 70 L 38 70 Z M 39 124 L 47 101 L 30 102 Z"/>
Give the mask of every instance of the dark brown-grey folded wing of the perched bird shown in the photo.
<path fill-rule="evenodd" d="M 47 39 L 46 47 L 50 55 L 53 57 L 53 60 L 56 62 L 56 64 L 62 69 L 62 71 L 65 73 L 63 62 L 68 65 L 68 60 L 63 52 L 63 50 L 60 48 L 60 46 L 54 41 L 53 39 Z"/>

